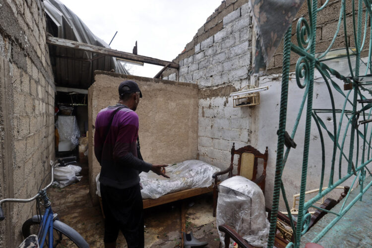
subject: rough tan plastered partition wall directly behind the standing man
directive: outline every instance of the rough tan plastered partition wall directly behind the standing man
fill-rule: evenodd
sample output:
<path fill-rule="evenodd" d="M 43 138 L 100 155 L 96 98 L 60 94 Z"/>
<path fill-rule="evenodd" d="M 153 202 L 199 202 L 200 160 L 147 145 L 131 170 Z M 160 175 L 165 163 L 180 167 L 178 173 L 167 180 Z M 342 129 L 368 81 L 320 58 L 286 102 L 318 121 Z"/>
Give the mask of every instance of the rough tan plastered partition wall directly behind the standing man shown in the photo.
<path fill-rule="evenodd" d="M 139 117 L 141 154 L 149 163 L 177 163 L 197 157 L 198 88 L 195 84 L 96 71 L 88 90 L 89 151 L 93 151 L 94 124 L 98 112 L 119 100 L 118 86 L 131 79 L 138 83 L 143 97 Z M 100 165 L 89 152 L 92 198 L 96 198 L 95 177 Z"/>

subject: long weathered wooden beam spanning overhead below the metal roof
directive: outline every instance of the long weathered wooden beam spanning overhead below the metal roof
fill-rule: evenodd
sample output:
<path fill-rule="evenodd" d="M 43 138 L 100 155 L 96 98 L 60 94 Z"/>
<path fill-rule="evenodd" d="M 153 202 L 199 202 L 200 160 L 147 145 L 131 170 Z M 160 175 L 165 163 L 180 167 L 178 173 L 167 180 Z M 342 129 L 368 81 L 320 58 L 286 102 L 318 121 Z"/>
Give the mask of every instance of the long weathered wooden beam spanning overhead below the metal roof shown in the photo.
<path fill-rule="evenodd" d="M 123 58 L 126 60 L 132 60 L 132 61 L 138 61 L 138 62 L 144 62 L 144 63 L 150 63 L 150 64 L 156 64 L 156 65 L 166 66 L 167 64 L 170 63 L 169 67 L 176 68 L 176 69 L 179 68 L 179 64 L 175 62 L 158 60 L 158 59 L 141 56 L 141 55 L 135 55 L 131 53 L 126 53 L 126 52 L 122 52 L 122 51 L 118 51 L 118 50 L 114 50 L 110 48 L 104 48 L 104 47 L 90 45 L 90 44 L 86 44 L 82 42 L 66 40 L 62 38 L 53 37 L 51 35 L 47 36 L 47 43 L 53 46 L 72 48 L 76 50 L 82 50 L 82 51 L 92 52 L 96 54 L 103 54 L 106 56 L 112 56 L 116 58 Z"/>

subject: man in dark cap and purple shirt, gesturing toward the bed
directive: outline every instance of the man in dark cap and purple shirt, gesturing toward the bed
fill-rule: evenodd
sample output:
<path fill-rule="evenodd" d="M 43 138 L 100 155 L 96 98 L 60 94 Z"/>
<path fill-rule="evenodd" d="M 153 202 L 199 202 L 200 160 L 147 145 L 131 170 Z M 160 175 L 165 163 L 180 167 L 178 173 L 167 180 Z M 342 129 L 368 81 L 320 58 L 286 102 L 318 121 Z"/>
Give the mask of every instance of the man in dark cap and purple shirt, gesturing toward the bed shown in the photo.
<path fill-rule="evenodd" d="M 115 248 L 119 230 L 128 248 L 144 247 L 141 172 L 169 178 L 162 167 L 137 158 L 138 116 L 134 112 L 142 93 L 137 83 L 119 85 L 119 103 L 101 110 L 96 119 L 94 153 L 101 165 L 100 189 L 105 213 L 105 248 Z"/>

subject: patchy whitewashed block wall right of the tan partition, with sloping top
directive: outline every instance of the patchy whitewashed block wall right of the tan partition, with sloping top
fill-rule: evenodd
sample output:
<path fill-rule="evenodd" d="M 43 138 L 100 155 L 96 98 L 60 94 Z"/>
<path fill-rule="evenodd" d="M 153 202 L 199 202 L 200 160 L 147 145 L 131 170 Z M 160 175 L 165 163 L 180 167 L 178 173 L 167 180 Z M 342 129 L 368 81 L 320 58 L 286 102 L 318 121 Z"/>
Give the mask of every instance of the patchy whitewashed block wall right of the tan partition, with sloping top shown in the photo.
<path fill-rule="evenodd" d="M 248 1 L 223 1 L 175 61 L 179 74 L 168 70 L 164 79 L 196 83 L 199 87 L 199 159 L 225 169 L 230 150 L 251 144 L 251 108 L 233 108 L 230 93 L 249 84 L 251 17 Z M 192 45 L 192 46 L 191 46 Z M 169 74 L 171 73 L 171 74 Z M 254 128 L 254 127 L 253 127 Z M 264 151 L 264 147 L 258 147 Z"/>

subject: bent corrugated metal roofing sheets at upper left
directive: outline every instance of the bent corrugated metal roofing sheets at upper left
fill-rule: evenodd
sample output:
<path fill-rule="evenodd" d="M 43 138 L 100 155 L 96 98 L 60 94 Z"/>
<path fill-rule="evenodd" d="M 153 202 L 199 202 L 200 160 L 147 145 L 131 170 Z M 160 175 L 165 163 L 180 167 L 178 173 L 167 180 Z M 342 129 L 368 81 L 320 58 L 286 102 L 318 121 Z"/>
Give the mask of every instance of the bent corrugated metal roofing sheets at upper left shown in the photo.
<path fill-rule="evenodd" d="M 95 36 L 80 18 L 59 0 L 44 0 L 47 31 L 53 36 L 110 48 Z M 58 86 L 87 89 L 94 81 L 95 70 L 129 74 L 115 58 L 49 45 L 51 63 Z"/>

